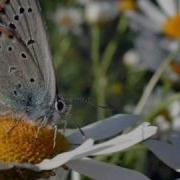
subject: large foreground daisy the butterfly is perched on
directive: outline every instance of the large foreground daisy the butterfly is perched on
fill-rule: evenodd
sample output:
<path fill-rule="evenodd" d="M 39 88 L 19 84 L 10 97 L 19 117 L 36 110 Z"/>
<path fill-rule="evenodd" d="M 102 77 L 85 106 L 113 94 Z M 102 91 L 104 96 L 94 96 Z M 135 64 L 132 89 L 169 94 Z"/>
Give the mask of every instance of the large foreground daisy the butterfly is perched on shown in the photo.
<path fill-rule="evenodd" d="M 1 175 L 12 175 L 17 170 L 22 170 L 21 175 L 25 170 L 34 174 L 55 170 L 57 176 L 62 176 L 60 170 L 72 169 L 92 179 L 148 180 L 136 171 L 90 158 L 124 151 L 156 133 L 157 128 L 148 123 L 127 131 L 135 126 L 137 119 L 130 115 L 112 116 L 83 127 L 85 137 L 82 137 L 79 130 L 71 131 L 66 136 L 57 132 L 54 136 L 51 127 L 39 129 L 32 122 L 23 120 L 22 116 L 21 119 L 14 119 L 14 116 L 5 115 L 0 121 Z"/>

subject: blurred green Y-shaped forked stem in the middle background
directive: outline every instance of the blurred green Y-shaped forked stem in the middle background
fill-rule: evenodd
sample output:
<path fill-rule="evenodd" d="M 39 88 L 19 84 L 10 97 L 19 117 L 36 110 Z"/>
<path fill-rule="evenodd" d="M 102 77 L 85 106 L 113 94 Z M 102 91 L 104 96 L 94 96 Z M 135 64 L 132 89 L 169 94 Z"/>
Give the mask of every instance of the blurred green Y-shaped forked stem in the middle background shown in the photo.
<path fill-rule="evenodd" d="M 94 91 L 98 106 L 106 105 L 106 89 L 108 85 L 107 72 L 118 47 L 118 36 L 119 34 L 123 34 L 126 31 L 126 27 L 125 20 L 121 18 L 119 20 L 116 33 L 108 43 L 104 53 L 102 54 L 102 57 L 100 55 L 100 27 L 91 27 L 91 58 L 94 73 Z M 97 118 L 98 120 L 105 118 L 105 110 L 103 108 L 97 109 Z"/>

